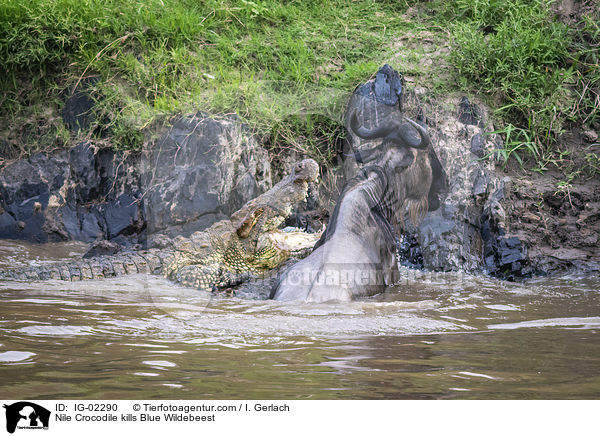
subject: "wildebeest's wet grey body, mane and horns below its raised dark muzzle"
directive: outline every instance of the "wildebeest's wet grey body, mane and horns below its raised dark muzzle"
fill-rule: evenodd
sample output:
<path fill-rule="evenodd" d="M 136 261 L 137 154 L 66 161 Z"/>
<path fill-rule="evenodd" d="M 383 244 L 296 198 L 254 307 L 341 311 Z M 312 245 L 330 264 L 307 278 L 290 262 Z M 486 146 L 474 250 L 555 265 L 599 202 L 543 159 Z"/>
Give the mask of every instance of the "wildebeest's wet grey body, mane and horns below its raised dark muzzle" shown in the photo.
<path fill-rule="evenodd" d="M 382 292 L 398 280 L 397 231 L 406 212 L 413 222 L 439 207 L 445 174 L 424 125 L 402 117 L 374 129 L 349 127 L 376 147 L 354 149 L 364 166 L 344 187 L 313 252 L 279 277 L 276 300 L 351 300 Z"/>

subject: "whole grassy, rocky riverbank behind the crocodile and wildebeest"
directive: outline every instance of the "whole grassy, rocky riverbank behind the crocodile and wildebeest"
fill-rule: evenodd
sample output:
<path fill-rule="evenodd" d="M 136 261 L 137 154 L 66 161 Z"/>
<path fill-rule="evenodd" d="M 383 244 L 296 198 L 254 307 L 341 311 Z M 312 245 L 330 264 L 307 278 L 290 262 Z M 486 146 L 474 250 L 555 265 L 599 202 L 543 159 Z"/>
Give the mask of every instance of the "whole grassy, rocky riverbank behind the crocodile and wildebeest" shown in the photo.
<path fill-rule="evenodd" d="M 2 10 L 0 158 L 12 171 L 3 173 L 5 237 L 136 245 L 147 241 L 131 236 L 149 223 L 173 227 L 171 236 L 201 229 L 271 186 L 297 156 L 321 164 L 325 187 L 289 224 L 316 227 L 340 188 L 345 103 L 389 63 L 427 108 L 429 128 L 451 145 L 445 163 L 456 150 L 462 159 L 450 218 L 429 222 L 454 255 L 438 250 L 445 263 L 436 263 L 424 253 L 424 267 L 477 270 L 487 256 L 488 268 L 510 277 L 513 268 L 516 276 L 598 269 L 600 12 L 592 2 L 461 2 L 449 10 L 438 1 L 336 1 L 325 11 L 312 2 L 136 5 L 38 0 Z M 29 39 L 17 44 L 17 34 Z M 485 107 L 485 122 L 465 118 L 462 96 Z M 201 187 L 195 194 L 171 195 L 183 192 L 181 179 L 147 195 L 143 171 L 132 169 L 148 161 L 140 150 L 198 109 L 218 120 L 207 135 L 225 132 L 213 139 L 233 144 L 231 153 L 204 179 L 204 163 L 186 173 Z M 241 143 L 231 142 L 238 122 Z M 10 165 L 28 156 L 17 171 Z M 511 182 L 499 190 L 504 176 Z M 200 198 L 202 190 L 214 198 Z M 490 221 L 485 202 L 494 194 L 502 208 Z M 144 210 L 142 199 L 154 203 Z M 480 229 L 486 220 L 502 228 L 490 236 Z M 443 241 L 440 223 L 458 229 L 452 241 Z"/>

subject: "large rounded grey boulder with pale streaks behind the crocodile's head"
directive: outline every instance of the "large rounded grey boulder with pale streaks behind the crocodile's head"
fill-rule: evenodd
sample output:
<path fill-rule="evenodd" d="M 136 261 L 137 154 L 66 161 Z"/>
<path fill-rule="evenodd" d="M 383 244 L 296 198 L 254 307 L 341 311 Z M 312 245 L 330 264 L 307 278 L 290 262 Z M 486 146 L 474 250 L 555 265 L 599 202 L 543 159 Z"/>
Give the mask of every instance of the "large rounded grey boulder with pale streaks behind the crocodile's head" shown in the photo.
<path fill-rule="evenodd" d="M 204 230 L 272 186 L 266 150 L 235 118 L 182 117 L 142 159 L 149 233 Z"/>

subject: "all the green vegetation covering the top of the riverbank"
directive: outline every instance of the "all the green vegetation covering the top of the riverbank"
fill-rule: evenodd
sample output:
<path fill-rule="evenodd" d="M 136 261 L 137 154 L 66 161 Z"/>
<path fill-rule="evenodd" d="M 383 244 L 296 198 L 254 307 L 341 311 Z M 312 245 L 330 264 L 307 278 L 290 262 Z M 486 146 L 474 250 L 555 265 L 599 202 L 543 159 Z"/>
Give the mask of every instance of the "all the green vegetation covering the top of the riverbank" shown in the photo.
<path fill-rule="evenodd" d="M 569 23 L 546 0 L 0 0 L 0 152 L 82 135 L 135 149 L 149 126 L 207 110 L 326 162 L 336 104 L 389 62 L 434 93 L 487 96 L 511 132 L 504 155 L 543 171 L 564 161 L 564 129 L 600 123 L 600 12 L 588 9 Z M 452 79 L 422 67 L 424 33 L 449 43 L 436 56 Z M 75 137 L 60 111 L 90 76 L 97 121 Z"/>

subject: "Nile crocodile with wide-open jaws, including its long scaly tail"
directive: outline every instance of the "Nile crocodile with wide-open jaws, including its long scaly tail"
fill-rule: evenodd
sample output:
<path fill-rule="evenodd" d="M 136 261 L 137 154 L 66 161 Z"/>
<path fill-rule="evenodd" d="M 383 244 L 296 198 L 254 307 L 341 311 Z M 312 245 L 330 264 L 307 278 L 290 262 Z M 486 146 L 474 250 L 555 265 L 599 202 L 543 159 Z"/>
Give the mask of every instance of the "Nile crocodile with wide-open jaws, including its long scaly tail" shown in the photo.
<path fill-rule="evenodd" d="M 223 289 L 251 274 L 280 265 L 291 255 L 306 252 L 320 234 L 283 232 L 279 225 L 304 200 L 308 183 L 317 179 L 312 159 L 296 163 L 290 175 L 250 200 L 230 219 L 216 222 L 189 238 L 178 236 L 169 248 L 124 252 L 78 261 L 11 269 L 0 278 L 21 280 L 89 280 L 133 273 L 163 275 L 199 289 Z"/>

